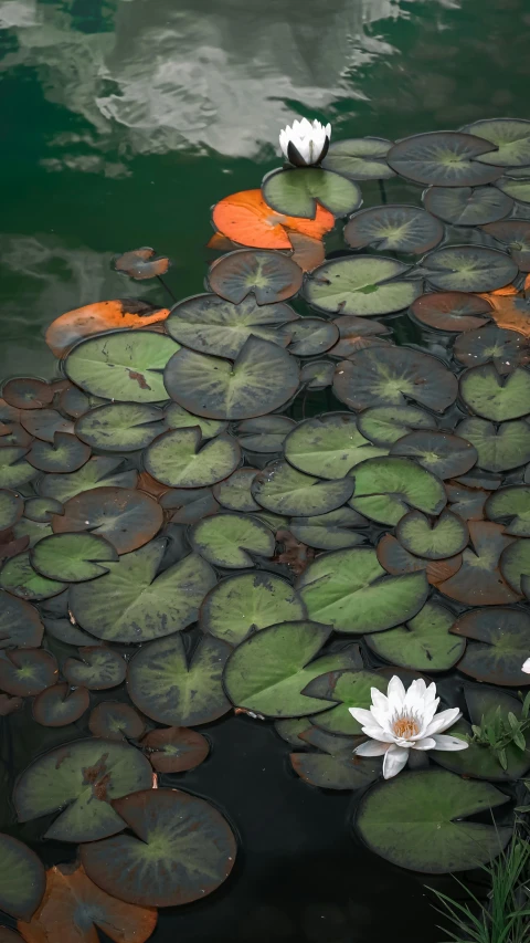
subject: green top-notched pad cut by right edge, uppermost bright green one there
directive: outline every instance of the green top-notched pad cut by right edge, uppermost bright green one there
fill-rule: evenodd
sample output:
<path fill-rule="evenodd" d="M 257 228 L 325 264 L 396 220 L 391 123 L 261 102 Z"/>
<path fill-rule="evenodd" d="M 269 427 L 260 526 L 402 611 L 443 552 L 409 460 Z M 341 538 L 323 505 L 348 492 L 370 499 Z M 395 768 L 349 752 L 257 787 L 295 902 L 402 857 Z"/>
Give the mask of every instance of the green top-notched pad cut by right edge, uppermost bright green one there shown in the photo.
<path fill-rule="evenodd" d="M 475 446 L 477 464 L 485 471 L 508 471 L 530 461 L 530 426 L 523 419 L 499 426 L 486 419 L 464 419 L 456 432 Z"/>

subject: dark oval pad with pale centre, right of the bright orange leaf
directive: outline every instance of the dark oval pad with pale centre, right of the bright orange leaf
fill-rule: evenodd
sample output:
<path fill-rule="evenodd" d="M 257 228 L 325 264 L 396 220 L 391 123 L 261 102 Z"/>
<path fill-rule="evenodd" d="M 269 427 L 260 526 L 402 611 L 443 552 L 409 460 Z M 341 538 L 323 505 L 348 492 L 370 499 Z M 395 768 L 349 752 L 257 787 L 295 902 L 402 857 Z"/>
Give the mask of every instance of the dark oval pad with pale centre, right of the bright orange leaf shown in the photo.
<path fill-rule="evenodd" d="M 494 192 L 499 193 L 498 190 Z M 411 252 L 422 255 L 434 249 L 443 238 L 442 223 L 421 207 L 412 206 L 388 203 L 370 207 L 354 213 L 344 227 L 346 242 L 352 249 L 365 249 L 370 245 L 382 252 Z"/>

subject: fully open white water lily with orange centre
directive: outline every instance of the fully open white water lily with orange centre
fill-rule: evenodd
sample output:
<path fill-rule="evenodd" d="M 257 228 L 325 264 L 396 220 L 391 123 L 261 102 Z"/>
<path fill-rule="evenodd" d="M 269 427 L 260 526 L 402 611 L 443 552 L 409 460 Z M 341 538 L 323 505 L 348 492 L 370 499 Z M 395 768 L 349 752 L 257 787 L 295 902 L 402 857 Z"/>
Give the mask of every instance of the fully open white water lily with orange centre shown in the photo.
<path fill-rule="evenodd" d="M 382 756 L 383 777 L 390 779 L 403 769 L 410 750 L 466 750 L 469 745 L 456 736 L 443 736 L 462 716 L 458 708 L 436 714 L 439 698 L 436 684 L 413 681 L 407 691 L 394 674 L 389 681 L 386 694 L 377 688 L 371 690 L 372 703 L 369 711 L 350 708 L 350 714 L 362 725 L 362 732 L 372 737 L 361 743 L 356 753 L 360 756 Z M 373 742 L 375 741 L 375 742 Z"/>

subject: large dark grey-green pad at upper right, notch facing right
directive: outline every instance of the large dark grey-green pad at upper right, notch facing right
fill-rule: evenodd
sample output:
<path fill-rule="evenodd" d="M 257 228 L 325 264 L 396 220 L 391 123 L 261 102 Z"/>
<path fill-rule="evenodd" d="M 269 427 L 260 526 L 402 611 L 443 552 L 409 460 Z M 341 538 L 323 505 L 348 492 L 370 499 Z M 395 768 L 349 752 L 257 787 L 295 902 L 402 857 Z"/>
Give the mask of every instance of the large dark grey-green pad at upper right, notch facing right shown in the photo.
<path fill-rule="evenodd" d="M 430 132 L 398 142 L 386 155 L 396 174 L 416 184 L 439 187 L 479 187 L 501 175 L 479 161 L 495 145 L 462 132 Z"/>

